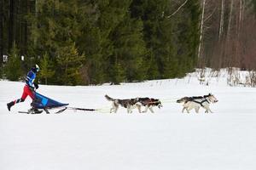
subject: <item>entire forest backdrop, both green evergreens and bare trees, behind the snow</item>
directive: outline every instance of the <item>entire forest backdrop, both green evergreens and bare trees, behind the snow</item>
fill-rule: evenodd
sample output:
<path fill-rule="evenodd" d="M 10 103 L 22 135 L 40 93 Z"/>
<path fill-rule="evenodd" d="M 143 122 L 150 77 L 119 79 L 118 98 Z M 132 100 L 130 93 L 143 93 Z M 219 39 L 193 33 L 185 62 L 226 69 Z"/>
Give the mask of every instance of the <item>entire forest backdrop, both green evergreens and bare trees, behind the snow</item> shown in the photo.
<path fill-rule="evenodd" d="M 11 81 L 35 64 L 40 83 L 57 85 L 256 68 L 256 0 L 0 0 L 0 13 L 0 76 Z"/>

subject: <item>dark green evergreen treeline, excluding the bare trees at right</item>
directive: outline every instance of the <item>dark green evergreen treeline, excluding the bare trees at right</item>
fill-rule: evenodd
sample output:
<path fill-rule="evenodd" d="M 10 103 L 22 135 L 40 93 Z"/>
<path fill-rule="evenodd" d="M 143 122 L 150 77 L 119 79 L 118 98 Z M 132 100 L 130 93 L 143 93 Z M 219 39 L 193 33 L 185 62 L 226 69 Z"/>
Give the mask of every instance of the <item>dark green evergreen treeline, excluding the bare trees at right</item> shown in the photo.
<path fill-rule="evenodd" d="M 0 0 L 1 76 L 41 83 L 183 77 L 198 61 L 200 0 Z M 23 60 L 20 57 L 24 56 Z"/>

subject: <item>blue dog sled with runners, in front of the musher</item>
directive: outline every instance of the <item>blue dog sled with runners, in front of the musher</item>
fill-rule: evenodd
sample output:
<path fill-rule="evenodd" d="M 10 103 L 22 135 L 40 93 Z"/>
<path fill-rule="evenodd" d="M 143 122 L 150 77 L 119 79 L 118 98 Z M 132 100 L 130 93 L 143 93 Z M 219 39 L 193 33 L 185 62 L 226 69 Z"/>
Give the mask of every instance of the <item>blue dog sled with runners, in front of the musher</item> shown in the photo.
<path fill-rule="evenodd" d="M 68 107 L 66 103 L 61 103 L 54 99 L 49 99 L 48 97 L 38 94 L 35 92 L 35 99 L 32 101 L 32 108 L 28 111 L 19 111 L 19 113 L 26 113 L 26 114 L 40 114 L 45 111 L 49 114 L 49 111 L 54 111 L 53 113 L 59 114 L 66 110 L 73 110 L 73 111 L 96 111 L 96 109 L 85 109 L 85 108 L 78 108 L 78 107 Z"/>

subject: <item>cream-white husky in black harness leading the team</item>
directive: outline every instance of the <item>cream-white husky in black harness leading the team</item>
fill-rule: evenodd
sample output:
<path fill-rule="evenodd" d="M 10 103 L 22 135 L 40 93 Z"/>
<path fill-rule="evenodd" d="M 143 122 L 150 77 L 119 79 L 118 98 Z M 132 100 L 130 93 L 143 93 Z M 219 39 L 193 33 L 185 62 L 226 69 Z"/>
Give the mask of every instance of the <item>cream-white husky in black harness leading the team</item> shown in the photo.
<path fill-rule="evenodd" d="M 196 97 L 183 97 L 182 99 L 177 99 L 177 103 L 183 103 L 183 111 L 186 110 L 188 113 L 192 109 L 195 109 L 195 112 L 198 113 L 200 107 L 204 108 L 206 113 L 209 111 L 212 113 L 210 110 L 210 103 L 216 102 L 218 102 L 218 99 L 216 99 L 213 94 Z"/>

